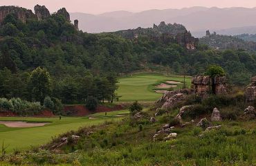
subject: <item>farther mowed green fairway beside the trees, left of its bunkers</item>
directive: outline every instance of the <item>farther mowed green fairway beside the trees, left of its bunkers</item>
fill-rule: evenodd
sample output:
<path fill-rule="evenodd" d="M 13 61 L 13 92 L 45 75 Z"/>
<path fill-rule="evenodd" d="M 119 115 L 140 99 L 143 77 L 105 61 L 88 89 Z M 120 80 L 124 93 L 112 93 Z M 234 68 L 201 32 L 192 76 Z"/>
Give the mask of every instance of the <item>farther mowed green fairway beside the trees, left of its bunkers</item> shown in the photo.
<path fill-rule="evenodd" d="M 154 91 L 157 84 L 166 81 L 183 82 L 183 76 L 173 75 L 165 76 L 161 74 L 145 73 L 136 74 L 129 77 L 120 77 L 118 79 L 118 95 L 122 96 L 120 102 L 129 101 L 155 101 L 161 98 L 163 94 Z M 185 77 L 186 86 L 190 86 L 191 77 Z M 183 84 L 179 84 L 176 89 L 179 89 Z"/>

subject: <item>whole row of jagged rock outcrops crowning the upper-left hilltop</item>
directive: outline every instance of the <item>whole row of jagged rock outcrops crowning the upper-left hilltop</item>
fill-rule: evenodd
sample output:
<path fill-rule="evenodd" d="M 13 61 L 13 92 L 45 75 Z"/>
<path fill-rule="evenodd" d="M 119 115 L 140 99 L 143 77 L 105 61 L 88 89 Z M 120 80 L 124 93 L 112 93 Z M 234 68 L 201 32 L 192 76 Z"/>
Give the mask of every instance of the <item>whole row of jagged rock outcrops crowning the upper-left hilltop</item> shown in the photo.
<path fill-rule="evenodd" d="M 19 8 L 17 6 L 0 6 L 0 23 L 3 21 L 3 19 L 6 18 L 9 14 L 15 14 L 19 20 L 22 22 L 26 22 L 28 19 L 37 19 L 39 21 L 43 19 L 47 19 L 51 16 L 49 10 L 46 8 L 46 6 L 35 6 L 34 8 L 35 14 L 32 12 L 32 10 L 28 10 L 26 8 Z M 61 8 L 57 12 L 55 12 L 55 15 L 63 15 L 64 18 L 68 21 L 71 21 L 69 13 L 66 11 L 66 8 Z M 78 30 L 78 20 L 76 19 L 74 21 L 74 26 Z"/>

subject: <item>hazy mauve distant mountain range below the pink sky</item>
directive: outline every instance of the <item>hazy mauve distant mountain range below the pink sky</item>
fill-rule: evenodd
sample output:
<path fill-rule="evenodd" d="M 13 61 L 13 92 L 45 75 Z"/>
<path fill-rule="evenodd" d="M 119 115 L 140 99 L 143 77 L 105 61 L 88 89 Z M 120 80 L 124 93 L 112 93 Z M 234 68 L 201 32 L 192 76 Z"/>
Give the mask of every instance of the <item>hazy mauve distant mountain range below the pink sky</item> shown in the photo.
<path fill-rule="evenodd" d="M 256 8 L 205 8 L 147 10 L 143 12 L 116 11 L 100 15 L 71 13 L 78 19 L 80 29 L 88 33 L 113 32 L 129 28 L 149 28 L 160 21 L 183 24 L 192 35 L 202 37 L 205 30 L 223 35 L 256 33 Z"/>

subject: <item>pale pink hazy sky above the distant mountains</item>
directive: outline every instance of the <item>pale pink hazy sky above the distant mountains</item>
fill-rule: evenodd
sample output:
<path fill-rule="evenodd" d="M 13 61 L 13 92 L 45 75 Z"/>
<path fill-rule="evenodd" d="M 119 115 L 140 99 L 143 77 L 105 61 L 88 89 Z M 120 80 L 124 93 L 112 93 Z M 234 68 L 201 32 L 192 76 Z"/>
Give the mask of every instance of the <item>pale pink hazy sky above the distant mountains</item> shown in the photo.
<path fill-rule="evenodd" d="M 50 12 L 65 7 L 68 12 L 102 12 L 127 10 L 139 12 L 149 9 L 185 8 L 191 6 L 206 7 L 256 7 L 256 0 L 0 0 L 0 6 L 22 6 L 33 9 L 36 4 L 45 5 Z"/>

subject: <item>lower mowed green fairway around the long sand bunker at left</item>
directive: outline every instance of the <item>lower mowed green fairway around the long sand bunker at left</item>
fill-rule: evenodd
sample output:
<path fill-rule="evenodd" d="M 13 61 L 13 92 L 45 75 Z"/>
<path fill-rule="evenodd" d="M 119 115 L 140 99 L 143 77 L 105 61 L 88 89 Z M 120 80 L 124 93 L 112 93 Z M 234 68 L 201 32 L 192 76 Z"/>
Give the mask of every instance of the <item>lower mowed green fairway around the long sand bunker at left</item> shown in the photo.
<path fill-rule="evenodd" d="M 127 110 L 108 112 L 107 116 L 104 113 L 95 113 L 88 117 L 71 118 L 0 118 L 1 120 L 14 120 L 26 122 L 51 122 L 43 127 L 27 127 L 27 128 L 11 128 L 0 124 L 0 142 L 4 142 L 7 152 L 14 149 L 28 149 L 31 146 L 39 146 L 51 140 L 52 137 L 70 130 L 77 130 L 80 127 L 102 124 L 106 121 L 121 120 L 120 115 L 129 113 Z M 119 115 L 119 116 L 118 116 Z"/>

